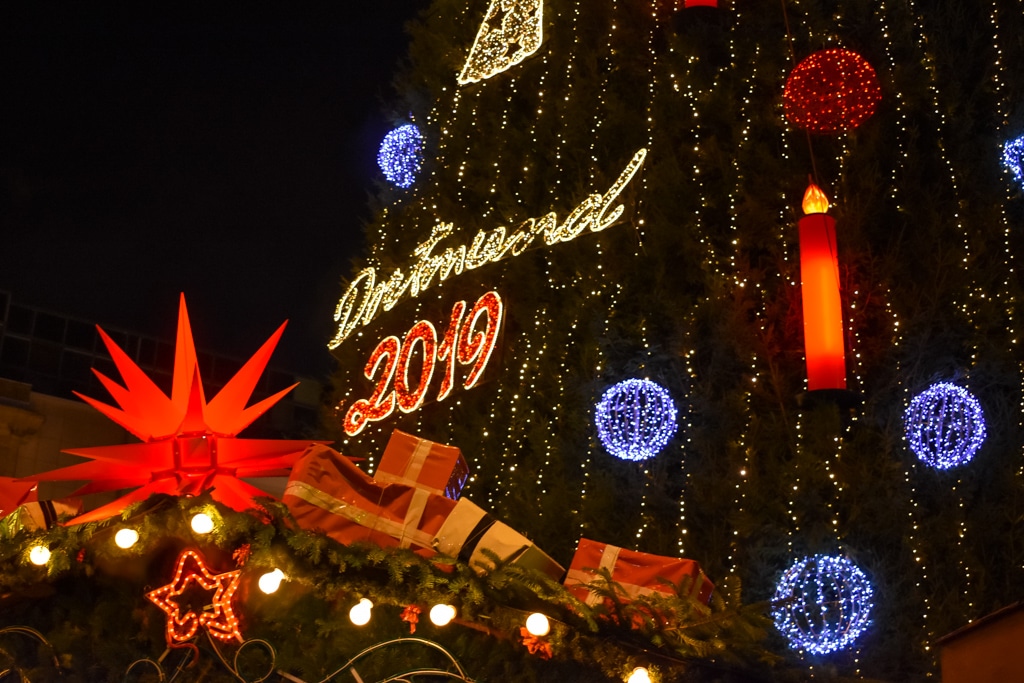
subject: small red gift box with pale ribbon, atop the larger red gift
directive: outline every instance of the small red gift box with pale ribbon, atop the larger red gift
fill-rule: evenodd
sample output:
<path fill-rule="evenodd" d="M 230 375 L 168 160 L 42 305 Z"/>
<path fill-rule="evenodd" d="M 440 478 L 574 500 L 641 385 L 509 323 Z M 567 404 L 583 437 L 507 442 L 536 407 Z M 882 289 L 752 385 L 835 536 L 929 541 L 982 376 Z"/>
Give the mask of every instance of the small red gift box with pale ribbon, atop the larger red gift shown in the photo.
<path fill-rule="evenodd" d="M 374 479 L 404 483 L 432 494 L 459 498 L 469 478 L 469 465 L 454 445 L 434 443 L 395 429 L 384 449 Z"/>

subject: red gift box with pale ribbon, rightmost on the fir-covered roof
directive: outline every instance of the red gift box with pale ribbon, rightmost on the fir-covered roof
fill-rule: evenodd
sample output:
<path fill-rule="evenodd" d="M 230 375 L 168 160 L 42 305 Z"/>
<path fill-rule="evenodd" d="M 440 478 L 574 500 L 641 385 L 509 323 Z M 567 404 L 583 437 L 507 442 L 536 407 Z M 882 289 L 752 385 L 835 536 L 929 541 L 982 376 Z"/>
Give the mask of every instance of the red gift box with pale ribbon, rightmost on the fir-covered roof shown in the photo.
<path fill-rule="evenodd" d="M 596 581 L 599 578 L 596 569 L 602 568 L 611 572 L 612 581 L 623 587 L 629 598 L 654 592 L 674 595 L 672 587 L 662 580 L 682 586 L 684 590 L 689 587 L 689 595 L 703 603 L 711 600 L 715 589 L 693 560 L 641 553 L 589 539 L 580 539 L 565 577 L 565 587 L 587 604 L 597 604 L 601 597 L 584 584 Z"/>

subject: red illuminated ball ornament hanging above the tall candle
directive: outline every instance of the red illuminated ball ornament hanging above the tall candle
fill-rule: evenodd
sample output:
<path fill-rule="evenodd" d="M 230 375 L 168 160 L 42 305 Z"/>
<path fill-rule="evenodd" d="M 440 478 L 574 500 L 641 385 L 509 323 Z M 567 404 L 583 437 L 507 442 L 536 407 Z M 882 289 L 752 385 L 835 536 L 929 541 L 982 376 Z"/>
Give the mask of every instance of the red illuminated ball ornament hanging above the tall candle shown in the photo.
<path fill-rule="evenodd" d="M 821 50 L 801 61 L 782 93 L 785 118 L 812 133 L 853 130 L 874 114 L 881 99 L 871 65 L 844 49 Z"/>

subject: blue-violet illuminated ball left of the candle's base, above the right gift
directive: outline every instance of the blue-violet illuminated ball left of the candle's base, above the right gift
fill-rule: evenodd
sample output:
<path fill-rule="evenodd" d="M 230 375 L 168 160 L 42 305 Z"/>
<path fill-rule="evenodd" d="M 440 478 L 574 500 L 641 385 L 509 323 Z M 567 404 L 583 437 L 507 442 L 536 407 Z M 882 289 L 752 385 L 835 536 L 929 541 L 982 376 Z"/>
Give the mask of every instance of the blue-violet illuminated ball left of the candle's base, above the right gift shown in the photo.
<path fill-rule="evenodd" d="M 594 411 L 597 436 L 623 460 L 653 458 L 676 433 L 676 405 L 665 387 L 631 379 L 613 385 Z"/>

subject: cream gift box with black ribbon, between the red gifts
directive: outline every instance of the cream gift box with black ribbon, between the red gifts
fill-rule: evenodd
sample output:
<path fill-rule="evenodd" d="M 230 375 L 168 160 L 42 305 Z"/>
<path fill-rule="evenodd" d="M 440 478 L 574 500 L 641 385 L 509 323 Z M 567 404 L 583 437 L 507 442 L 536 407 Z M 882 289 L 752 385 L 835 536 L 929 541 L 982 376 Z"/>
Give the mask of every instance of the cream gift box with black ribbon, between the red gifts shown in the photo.
<path fill-rule="evenodd" d="M 560 581 L 565 574 L 564 567 L 548 557 L 526 537 L 498 521 L 465 498 L 459 499 L 452 514 L 441 524 L 433 540 L 433 547 L 439 553 L 467 562 L 481 574 L 486 572 L 483 567 L 490 564 L 481 552 L 484 549 L 496 553 L 503 561 L 537 569 L 555 581 Z"/>

